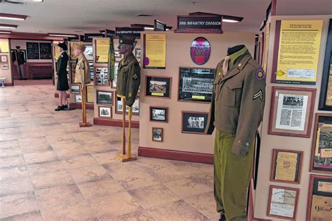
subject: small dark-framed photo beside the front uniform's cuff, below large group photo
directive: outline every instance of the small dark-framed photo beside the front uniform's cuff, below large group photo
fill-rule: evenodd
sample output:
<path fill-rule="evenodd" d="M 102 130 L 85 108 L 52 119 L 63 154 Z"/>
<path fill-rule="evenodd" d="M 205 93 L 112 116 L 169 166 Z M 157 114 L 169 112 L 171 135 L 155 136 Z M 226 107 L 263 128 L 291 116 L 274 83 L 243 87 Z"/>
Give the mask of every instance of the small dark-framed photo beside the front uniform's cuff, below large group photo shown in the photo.
<path fill-rule="evenodd" d="M 203 112 L 182 111 L 182 133 L 205 134 L 207 115 Z"/>

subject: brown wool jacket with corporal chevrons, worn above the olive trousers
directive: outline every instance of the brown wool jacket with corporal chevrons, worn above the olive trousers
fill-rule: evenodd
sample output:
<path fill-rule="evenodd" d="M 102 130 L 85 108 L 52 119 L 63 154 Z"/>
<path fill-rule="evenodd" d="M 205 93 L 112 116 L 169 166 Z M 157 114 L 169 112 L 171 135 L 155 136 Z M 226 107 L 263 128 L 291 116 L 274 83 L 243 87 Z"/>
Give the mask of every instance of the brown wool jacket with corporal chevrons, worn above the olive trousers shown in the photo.
<path fill-rule="evenodd" d="M 263 117 L 265 73 L 249 52 L 240 56 L 223 76 L 223 60 L 216 67 L 212 104 L 205 132 L 235 134 L 231 151 L 246 156 Z"/>

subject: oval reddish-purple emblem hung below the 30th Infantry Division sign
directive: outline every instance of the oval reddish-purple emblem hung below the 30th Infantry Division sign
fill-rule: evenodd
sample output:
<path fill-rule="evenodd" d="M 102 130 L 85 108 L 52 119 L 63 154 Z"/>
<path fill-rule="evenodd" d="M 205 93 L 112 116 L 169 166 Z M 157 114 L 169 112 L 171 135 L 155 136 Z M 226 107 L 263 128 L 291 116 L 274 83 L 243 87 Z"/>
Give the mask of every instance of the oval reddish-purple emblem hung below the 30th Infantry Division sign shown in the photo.
<path fill-rule="evenodd" d="M 211 54 L 211 47 L 206 38 L 198 37 L 191 43 L 191 59 L 195 64 L 207 63 Z"/>

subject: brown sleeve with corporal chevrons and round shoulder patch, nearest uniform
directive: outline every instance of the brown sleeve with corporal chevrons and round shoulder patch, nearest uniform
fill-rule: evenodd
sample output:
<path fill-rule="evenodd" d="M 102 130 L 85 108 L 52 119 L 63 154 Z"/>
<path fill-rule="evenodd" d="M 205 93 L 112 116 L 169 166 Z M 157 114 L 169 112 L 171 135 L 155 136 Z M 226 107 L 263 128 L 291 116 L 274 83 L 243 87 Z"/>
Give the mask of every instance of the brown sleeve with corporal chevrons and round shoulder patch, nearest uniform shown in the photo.
<path fill-rule="evenodd" d="M 231 151 L 235 155 L 247 156 L 263 117 L 265 105 L 265 73 L 254 69 L 244 78 L 235 140 Z"/>

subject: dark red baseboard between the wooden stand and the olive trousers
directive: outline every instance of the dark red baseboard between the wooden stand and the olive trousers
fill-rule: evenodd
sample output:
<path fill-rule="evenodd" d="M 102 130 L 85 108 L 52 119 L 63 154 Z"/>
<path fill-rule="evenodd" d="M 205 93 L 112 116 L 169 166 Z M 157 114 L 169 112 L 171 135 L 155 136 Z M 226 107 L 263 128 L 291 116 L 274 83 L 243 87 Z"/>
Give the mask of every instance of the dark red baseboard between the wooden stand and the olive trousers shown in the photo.
<path fill-rule="evenodd" d="M 172 159 L 172 160 L 195 162 L 202 164 L 213 164 L 213 155 L 202 152 L 187 152 L 179 150 L 139 147 L 138 155 L 140 157 Z"/>

